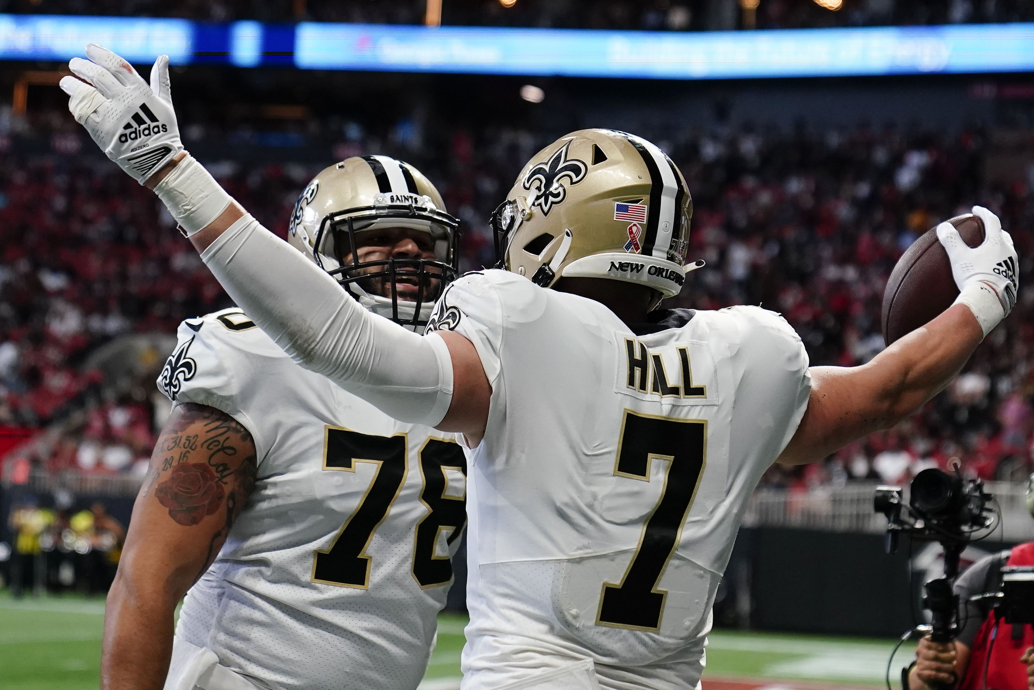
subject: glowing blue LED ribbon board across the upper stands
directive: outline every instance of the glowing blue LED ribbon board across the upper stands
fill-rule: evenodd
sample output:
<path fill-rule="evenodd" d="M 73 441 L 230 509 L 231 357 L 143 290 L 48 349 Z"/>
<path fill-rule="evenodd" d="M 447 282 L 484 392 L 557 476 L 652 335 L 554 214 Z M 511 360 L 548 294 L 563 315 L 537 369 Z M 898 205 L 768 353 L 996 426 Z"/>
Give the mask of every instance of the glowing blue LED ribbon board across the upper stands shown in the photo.
<path fill-rule="evenodd" d="M 210 24 L 0 14 L 0 59 L 64 61 L 97 42 L 136 63 L 634 79 L 1034 70 L 1034 24 L 645 32 L 364 24 Z"/>

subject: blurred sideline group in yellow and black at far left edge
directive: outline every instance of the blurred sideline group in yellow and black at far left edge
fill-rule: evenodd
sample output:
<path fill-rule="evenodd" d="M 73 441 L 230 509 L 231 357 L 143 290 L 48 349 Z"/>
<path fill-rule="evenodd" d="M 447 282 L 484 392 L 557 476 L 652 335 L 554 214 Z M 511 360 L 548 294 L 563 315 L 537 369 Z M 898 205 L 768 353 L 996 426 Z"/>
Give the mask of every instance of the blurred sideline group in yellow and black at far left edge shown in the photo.
<path fill-rule="evenodd" d="M 32 493 L 14 499 L 7 516 L 11 543 L 0 544 L 0 580 L 13 597 L 108 592 L 125 528 L 101 502 L 77 508 L 64 491 L 51 499 L 45 504 Z"/>

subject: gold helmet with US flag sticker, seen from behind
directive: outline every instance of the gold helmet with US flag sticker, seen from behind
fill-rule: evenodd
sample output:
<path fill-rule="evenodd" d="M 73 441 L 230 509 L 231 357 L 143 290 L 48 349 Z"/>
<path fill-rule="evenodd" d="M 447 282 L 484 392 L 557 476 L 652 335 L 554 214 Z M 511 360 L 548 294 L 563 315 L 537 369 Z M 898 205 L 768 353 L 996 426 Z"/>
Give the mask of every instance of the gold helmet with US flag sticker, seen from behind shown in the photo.
<path fill-rule="evenodd" d="M 613 129 L 561 137 L 531 158 L 492 214 L 501 267 L 549 288 L 560 276 L 681 290 L 693 200 L 675 163 Z"/>

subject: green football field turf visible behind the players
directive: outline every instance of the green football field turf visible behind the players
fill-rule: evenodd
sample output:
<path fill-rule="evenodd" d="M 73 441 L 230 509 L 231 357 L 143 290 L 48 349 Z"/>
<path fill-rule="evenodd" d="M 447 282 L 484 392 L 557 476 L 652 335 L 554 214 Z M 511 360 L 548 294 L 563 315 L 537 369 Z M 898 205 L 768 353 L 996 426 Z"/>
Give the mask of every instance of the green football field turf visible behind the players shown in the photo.
<path fill-rule="evenodd" d="M 0 593 L 0 690 L 96 690 L 102 623 L 99 599 L 12 600 Z M 458 687 L 464 623 L 457 614 L 439 619 L 438 644 L 422 690 Z M 892 646 L 887 639 L 718 631 L 710 635 L 704 687 L 873 688 L 882 685 Z M 911 654 L 911 648 L 900 651 L 895 669 L 907 665 Z"/>

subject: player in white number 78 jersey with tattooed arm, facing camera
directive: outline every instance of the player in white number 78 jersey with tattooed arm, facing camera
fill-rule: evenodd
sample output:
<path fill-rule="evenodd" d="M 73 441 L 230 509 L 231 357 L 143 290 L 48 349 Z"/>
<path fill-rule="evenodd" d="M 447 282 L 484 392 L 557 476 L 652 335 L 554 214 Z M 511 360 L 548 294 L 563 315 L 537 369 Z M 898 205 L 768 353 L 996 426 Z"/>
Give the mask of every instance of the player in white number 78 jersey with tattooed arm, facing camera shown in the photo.
<path fill-rule="evenodd" d="M 422 329 L 457 228 L 420 172 L 366 156 L 308 184 L 288 241 Z M 158 386 L 176 408 L 108 598 L 103 687 L 416 688 L 465 521 L 453 434 L 303 369 L 236 308 L 183 322 Z"/>

